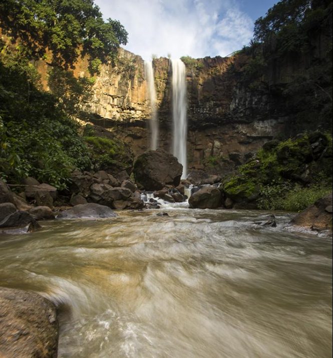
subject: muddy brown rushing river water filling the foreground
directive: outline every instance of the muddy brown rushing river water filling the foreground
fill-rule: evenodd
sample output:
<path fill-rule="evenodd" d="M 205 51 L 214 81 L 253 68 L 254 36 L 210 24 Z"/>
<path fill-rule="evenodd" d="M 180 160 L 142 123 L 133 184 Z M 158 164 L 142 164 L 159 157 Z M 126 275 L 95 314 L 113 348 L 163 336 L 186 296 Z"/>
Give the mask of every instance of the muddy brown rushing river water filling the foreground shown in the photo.
<path fill-rule="evenodd" d="M 0 285 L 60 309 L 60 357 L 331 356 L 332 241 L 263 212 L 119 212 L 0 239 Z"/>

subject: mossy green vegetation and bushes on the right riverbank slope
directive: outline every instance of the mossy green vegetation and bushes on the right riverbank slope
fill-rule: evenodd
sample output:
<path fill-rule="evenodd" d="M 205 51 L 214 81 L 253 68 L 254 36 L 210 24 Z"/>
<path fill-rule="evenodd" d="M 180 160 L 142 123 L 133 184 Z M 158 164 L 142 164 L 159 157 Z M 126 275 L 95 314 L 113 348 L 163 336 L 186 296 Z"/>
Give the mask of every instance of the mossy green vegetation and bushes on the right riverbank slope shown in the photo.
<path fill-rule="evenodd" d="M 223 185 L 235 202 L 300 211 L 331 192 L 332 137 L 314 132 L 267 142 Z"/>

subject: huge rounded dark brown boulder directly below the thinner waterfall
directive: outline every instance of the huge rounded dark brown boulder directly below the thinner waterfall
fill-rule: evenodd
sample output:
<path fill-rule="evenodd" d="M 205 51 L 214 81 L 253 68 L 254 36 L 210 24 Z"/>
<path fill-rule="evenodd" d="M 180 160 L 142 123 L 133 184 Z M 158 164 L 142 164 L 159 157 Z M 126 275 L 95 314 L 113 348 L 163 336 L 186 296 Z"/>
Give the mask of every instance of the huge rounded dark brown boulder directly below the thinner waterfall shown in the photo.
<path fill-rule="evenodd" d="M 175 156 L 162 149 L 149 150 L 138 156 L 134 163 L 134 177 L 137 185 L 148 191 L 177 187 L 183 166 Z"/>

